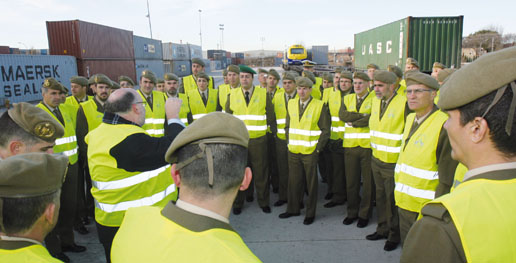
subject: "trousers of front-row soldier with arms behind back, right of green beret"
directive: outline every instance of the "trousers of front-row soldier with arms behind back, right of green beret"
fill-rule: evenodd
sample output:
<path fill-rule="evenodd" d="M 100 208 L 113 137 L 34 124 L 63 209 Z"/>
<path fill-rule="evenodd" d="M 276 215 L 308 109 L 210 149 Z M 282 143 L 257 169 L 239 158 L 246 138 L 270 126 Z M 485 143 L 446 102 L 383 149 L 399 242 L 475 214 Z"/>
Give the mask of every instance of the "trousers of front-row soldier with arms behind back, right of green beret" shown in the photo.
<path fill-rule="evenodd" d="M 287 212 L 297 214 L 301 210 L 303 193 L 308 190 L 306 217 L 315 217 L 317 207 L 317 158 L 319 154 L 288 152 L 288 203 Z M 303 176 L 304 175 L 304 176 Z"/>

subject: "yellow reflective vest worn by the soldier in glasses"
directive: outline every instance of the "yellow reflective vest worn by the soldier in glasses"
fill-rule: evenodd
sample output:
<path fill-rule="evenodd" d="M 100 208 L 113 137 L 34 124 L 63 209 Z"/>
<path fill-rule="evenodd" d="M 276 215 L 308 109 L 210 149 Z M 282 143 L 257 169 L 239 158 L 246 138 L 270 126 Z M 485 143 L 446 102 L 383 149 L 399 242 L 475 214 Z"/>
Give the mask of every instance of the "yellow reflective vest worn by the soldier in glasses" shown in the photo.
<path fill-rule="evenodd" d="M 435 197 L 439 184 L 436 150 L 440 131 L 448 116 L 442 111 L 432 113 L 405 142 L 415 116 L 411 113 L 407 117 L 394 175 L 394 197 L 398 207 L 419 213 L 423 205 Z"/>

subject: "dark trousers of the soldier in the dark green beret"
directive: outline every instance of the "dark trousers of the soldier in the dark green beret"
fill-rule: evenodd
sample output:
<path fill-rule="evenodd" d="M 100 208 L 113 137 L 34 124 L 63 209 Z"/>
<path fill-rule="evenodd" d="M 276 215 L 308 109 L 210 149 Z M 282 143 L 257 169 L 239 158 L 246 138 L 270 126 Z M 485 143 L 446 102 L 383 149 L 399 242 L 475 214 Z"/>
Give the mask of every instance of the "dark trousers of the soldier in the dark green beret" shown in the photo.
<path fill-rule="evenodd" d="M 249 139 L 247 163 L 253 172 L 254 185 L 256 187 L 256 196 L 258 205 L 260 207 L 269 206 L 270 189 L 269 189 L 269 174 L 267 167 L 267 136 L 264 135 L 259 138 Z M 251 196 L 254 191 L 251 185 L 246 191 L 251 191 Z M 249 192 L 239 191 L 234 208 L 242 208 L 244 206 L 245 197 L 249 196 Z"/>

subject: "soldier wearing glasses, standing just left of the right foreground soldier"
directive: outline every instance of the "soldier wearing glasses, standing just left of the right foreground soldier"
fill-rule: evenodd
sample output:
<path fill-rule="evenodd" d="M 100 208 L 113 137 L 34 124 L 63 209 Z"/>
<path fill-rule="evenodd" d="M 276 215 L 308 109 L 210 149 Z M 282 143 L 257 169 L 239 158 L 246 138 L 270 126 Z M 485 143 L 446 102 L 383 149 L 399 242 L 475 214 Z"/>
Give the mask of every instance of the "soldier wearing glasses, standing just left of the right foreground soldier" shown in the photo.
<path fill-rule="evenodd" d="M 406 120 L 394 176 L 402 245 L 423 205 L 450 191 L 457 167 L 443 129 L 448 116 L 434 104 L 439 83 L 418 71 L 405 78 L 407 103 L 414 113 Z"/>

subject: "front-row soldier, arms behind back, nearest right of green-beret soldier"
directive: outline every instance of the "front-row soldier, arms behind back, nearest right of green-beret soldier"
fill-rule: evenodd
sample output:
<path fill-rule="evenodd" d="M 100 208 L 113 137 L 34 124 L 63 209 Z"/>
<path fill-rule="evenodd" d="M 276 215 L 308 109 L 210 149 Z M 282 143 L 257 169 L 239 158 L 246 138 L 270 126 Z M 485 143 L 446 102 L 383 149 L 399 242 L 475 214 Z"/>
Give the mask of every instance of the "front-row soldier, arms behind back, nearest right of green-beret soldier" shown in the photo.
<path fill-rule="evenodd" d="M 300 215 L 303 202 L 303 175 L 308 190 L 306 214 L 303 224 L 315 220 L 317 206 L 317 158 L 330 136 L 328 108 L 311 97 L 314 83 L 306 78 L 296 79 L 298 97 L 288 102 L 286 135 L 288 141 L 288 203 L 287 211 L 279 218 Z"/>

